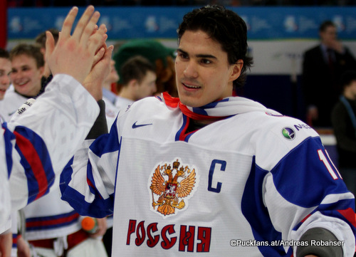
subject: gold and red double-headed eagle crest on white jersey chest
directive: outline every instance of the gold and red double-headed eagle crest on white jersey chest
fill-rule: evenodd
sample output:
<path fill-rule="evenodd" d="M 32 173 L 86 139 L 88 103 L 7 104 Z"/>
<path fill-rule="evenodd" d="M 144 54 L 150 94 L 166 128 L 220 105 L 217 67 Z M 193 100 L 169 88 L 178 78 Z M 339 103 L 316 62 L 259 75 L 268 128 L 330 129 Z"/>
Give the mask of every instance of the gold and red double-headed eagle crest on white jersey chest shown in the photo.
<path fill-rule="evenodd" d="M 197 174 L 188 165 L 180 165 L 179 159 L 159 164 L 152 175 L 150 191 L 152 193 L 152 211 L 164 217 L 176 214 L 176 209 L 187 208 L 184 199 L 189 199 L 197 188 Z M 157 207 L 157 209 L 156 209 Z"/>

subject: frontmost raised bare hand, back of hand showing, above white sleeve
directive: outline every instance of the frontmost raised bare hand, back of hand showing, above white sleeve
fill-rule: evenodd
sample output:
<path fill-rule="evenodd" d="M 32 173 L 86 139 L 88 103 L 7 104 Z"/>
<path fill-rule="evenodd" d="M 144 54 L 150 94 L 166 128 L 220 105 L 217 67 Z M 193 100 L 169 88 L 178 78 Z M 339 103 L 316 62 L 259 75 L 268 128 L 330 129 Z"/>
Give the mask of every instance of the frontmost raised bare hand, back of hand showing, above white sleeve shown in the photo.
<path fill-rule="evenodd" d="M 68 74 L 83 83 L 93 66 L 95 54 L 103 47 L 108 35 L 104 24 L 99 28 L 96 25 L 100 14 L 94 6 L 85 9 L 70 35 L 77 14 L 77 7 L 69 11 L 56 46 L 52 34 L 46 32 L 46 61 L 53 75 Z"/>

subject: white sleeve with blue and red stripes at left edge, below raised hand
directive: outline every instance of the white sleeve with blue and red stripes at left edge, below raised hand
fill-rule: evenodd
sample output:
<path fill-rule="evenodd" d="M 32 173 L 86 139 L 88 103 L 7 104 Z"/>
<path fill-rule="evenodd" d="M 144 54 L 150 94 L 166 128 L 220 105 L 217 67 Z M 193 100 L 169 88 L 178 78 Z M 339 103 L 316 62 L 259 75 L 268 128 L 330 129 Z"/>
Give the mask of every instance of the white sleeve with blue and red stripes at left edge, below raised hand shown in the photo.
<path fill-rule="evenodd" d="M 31 108 L 2 123 L 0 176 L 9 183 L 1 179 L 0 224 L 11 207 L 21 209 L 49 192 L 98 113 L 98 104 L 78 81 L 56 75 Z"/>

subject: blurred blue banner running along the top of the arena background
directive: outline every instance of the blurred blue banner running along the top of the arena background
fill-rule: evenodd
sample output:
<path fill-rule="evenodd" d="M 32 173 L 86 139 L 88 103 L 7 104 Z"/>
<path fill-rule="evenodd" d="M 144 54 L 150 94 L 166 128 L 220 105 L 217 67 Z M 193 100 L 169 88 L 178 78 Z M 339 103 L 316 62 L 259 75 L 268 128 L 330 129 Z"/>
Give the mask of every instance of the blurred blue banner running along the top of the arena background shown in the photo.
<path fill-rule="evenodd" d="M 177 38 L 184 14 L 194 7 L 98 7 L 99 23 L 108 27 L 110 40 Z M 48 28 L 60 29 L 67 8 L 9 8 L 8 39 L 32 39 Z M 339 38 L 356 39 L 355 7 L 236 7 L 248 26 L 249 40 L 318 38 L 325 20 L 333 21 Z M 80 14 L 84 7 L 80 8 Z"/>

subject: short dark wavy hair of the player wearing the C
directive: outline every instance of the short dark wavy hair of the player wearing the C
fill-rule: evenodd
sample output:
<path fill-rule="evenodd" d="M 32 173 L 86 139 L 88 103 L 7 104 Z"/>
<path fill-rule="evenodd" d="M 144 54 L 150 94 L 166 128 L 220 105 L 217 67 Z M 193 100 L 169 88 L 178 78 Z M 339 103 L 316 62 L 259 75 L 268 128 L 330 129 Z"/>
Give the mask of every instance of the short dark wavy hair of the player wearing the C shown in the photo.
<path fill-rule="evenodd" d="M 241 75 L 234 80 L 234 89 L 244 85 L 246 69 L 253 63 L 252 58 L 247 56 L 247 27 L 244 20 L 224 6 L 213 5 L 194 9 L 184 15 L 177 29 L 178 41 L 185 31 L 198 30 L 204 31 L 221 44 L 222 49 L 227 53 L 229 64 L 232 65 L 239 60 L 244 61 Z"/>

